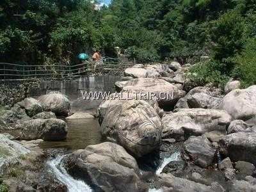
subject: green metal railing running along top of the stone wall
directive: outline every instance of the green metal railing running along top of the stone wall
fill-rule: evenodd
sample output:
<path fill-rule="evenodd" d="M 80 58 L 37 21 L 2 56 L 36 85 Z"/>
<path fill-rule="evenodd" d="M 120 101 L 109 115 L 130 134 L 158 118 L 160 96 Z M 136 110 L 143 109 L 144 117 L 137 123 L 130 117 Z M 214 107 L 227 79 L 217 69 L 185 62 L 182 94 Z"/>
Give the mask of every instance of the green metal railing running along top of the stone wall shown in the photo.
<path fill-rule="evenodd" d="M 68 79 L 77 76 L 86 76 L 95 72 L 107 74 L 109 71 L 122 71 L 132 63 L 124 63 L 118 58 L 104 58 L 99 70 L 94 70 L 93 62 L 84 61 L 78 65 L 20 65 L 0 63 L 0 80 L 31 80 L 31 79 Z"/>

